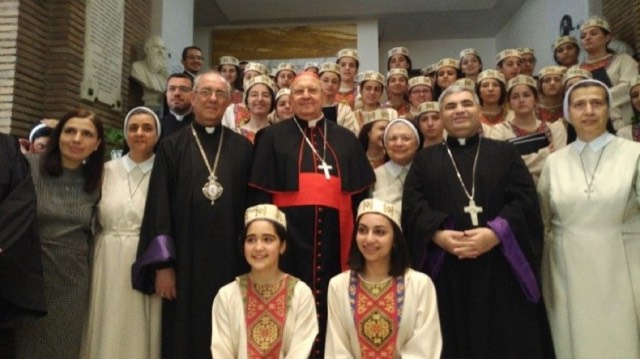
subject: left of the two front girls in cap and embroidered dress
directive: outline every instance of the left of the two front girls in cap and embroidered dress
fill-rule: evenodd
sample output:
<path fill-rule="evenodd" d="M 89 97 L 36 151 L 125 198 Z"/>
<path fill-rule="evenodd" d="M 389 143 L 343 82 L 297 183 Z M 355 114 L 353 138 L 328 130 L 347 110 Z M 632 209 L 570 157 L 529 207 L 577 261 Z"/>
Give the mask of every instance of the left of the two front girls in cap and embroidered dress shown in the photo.
<path fill-rule="evenodd" d="M 222 287 L 212 308 L 213 358 L 307 358 L 318 334 L 311 289 L 282 272 L 287 220 L 278 207 L 247 209 L 244 256 L 251 270 Z"/>

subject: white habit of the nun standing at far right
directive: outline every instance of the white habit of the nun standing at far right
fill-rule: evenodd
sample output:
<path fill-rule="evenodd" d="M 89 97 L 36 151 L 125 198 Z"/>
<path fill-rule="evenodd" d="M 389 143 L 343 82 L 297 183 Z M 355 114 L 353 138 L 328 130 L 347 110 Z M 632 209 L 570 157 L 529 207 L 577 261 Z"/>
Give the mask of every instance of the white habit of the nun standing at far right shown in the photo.
<path fill-rule="evenodd" d="M 639 161 L 640 144 L 605 133 L 542 170 L 542 289 L 560 359 L 640 358 Z"/>

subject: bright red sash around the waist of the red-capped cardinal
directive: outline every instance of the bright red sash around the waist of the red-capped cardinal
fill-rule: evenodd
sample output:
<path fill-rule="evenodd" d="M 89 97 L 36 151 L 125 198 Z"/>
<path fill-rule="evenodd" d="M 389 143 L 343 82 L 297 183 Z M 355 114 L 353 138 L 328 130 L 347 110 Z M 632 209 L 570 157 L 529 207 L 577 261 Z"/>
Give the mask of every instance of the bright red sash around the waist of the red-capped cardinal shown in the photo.
<path fill-rule="evenodd" d="M 300 173 L 298 191 L 276 192 L 273 204 L 278 207 L 325 206 L 338 210 L 340 218 L 340 268 L 347 270 L 347 258 L 353 233 L 351 195 L 342 192 L 340 178 L 326 179 L 322 173 Z"/>

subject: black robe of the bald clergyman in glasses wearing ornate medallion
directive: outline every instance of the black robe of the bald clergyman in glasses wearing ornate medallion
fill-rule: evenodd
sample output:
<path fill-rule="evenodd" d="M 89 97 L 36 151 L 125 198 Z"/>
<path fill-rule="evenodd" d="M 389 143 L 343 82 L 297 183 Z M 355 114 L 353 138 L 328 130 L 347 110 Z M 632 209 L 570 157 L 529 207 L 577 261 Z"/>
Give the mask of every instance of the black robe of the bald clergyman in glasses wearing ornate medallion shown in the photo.
<path fill-rule="evenodd" d="M 193 126 L 213 167 L 220 135 L 222 153 L 215 175 L 223 193 L 214 204 L 202 193 L 209 172 L 186 127 L 157 150 L 133 266 L 134 288 L 155 291 L 155 271 L 176 270 L 177 299 L 162 306 L 162 355 L 210 358 L 211 303 L 218 289 L 246 272 L 241 268 L 242 232 L 252 146 L 242 136 L 216 126 L 209 134 Z"/>

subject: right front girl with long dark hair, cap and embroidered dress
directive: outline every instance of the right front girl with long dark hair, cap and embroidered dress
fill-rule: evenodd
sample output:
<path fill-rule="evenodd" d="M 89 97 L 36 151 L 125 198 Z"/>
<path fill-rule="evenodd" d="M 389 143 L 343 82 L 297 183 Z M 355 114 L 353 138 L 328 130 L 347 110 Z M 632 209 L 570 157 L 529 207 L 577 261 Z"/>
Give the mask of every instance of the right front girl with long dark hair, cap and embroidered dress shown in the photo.
<path fill-rule="evenodd" d="M 431 279 L 409 269 L 400 211 L 366 199 L 358 207 L 349 266 L 329 282 L 327 358 L 439 358 Z"/>

